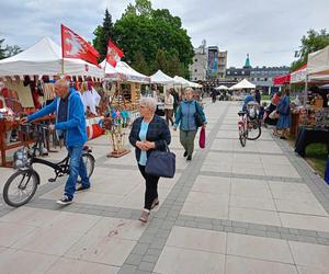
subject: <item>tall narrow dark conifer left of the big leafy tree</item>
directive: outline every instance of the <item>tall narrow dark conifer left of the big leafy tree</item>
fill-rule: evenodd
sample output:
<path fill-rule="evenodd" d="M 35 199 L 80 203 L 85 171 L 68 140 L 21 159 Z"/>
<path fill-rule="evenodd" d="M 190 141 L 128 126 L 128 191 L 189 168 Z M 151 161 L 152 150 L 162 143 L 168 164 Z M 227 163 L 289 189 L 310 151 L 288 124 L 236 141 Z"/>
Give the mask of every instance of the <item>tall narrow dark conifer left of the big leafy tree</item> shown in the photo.
<path fill-rule="evenodd" d="M 103 60 L 107 54 L 107 42 L 110 38 L 113 39 L 114 36 L 112 16 L 107 9 L 105 10 L 103 25 L 98 25 L 93 34 L 95 35 L 95 37 L 92 44 L 101 55 L 100 60 Z"/>

